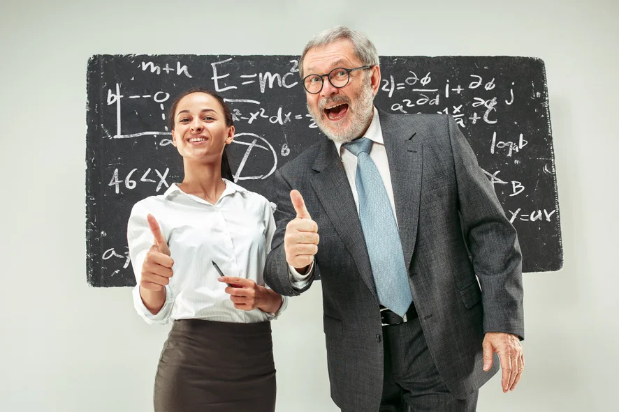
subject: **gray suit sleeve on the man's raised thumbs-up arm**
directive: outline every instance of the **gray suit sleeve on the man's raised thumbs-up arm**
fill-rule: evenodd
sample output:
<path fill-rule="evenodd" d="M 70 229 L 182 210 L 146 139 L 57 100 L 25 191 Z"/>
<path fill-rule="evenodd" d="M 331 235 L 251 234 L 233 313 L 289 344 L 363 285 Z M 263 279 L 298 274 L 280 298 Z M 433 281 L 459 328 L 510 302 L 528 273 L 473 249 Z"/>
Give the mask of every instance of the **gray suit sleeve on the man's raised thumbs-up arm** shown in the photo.
<path fill-rule="evenodd" d="M 291 188 L 291 185 L 279 170 L 275 171 L 273 176 L 272 188 L 272 199 L 277 205 L 275 210 L 277 229 L 275 229 L 275 234 L 273 235 L 271 251 L 266 259 L 264 280 L 271 289 L 280 295 L 298 296 L 312 286 L 316 270 L 313 270 L 312 275 L 304 281 L 302 289 L 297 289 L 295 284 L 291 282 L 286 252 L 284 251 L 284 234 L 286 234 L 286 225 L 296 216 L 290 200 L 290 191 L 293 188 Z"/>

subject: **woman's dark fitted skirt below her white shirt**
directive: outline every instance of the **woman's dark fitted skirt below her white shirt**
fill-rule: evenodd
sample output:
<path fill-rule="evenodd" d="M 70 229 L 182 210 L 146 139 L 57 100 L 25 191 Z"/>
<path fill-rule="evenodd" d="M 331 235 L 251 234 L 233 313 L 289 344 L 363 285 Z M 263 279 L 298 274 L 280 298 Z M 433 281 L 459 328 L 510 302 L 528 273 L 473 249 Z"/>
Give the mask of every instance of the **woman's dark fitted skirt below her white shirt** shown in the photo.
<path fill-rule="evenodd" d="M 275 411 L 270 322 L 174 321 L 157 367 L 154 410 Z"/>

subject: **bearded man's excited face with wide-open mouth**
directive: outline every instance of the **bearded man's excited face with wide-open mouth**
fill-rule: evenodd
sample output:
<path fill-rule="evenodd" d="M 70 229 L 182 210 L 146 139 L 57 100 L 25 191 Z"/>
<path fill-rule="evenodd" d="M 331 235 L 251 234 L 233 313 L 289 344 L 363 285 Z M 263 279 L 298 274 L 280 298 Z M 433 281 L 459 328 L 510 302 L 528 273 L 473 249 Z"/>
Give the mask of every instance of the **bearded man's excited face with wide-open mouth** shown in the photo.
<path fill-rule="evenodd" d="M 330 45 L 314 47 L 305 54 L 303 75 L 324 75 L 334 68 L 363 66 L 349 40 L 337 40 Z M 333 142 L 350 142 L 363 135 L 372 121 L 372 102 L 380 84 L 380 69 L 350 73 L 349 83 L 338 89 L 324 77 L 319 93 L 305 92 L 307 111 L 318 127 Z"/>

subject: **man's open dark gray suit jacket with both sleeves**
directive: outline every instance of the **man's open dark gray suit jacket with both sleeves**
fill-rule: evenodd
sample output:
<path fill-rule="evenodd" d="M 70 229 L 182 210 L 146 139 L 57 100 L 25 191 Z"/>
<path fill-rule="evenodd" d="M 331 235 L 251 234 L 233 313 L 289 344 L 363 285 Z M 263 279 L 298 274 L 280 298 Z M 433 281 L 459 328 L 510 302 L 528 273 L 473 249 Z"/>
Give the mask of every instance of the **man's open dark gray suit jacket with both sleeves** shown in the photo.
<path fill-rule="evenodd" d="M 379 111 L 379 119 L 413 302 L 447 388 L 464 398 L 498 369 L 496 357 L 493 371 L 481 369 L 483 334 L 524 337 L 516 230 L 451 116 Z M 296 216 L 289 193 L 297 189 L 319 227 L 331 397 L 342 409 L 375 412 L 383 387 L 379 302 L 335 144 L 325 137 L 308 148 L 275 173 L 273 187 L 277 231 L 265 282 L 283 295 L 305 290 L 292 286 L 284 253 L 286 224 Z"/>

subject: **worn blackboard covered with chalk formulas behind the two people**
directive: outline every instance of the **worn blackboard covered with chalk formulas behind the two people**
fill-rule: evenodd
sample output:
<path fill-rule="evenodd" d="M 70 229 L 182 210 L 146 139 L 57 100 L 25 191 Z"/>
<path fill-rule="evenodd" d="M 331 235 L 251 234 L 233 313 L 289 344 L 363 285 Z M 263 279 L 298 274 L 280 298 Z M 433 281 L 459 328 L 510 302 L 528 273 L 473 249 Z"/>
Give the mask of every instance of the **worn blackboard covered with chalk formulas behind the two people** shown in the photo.
<path fill-rule="evenodd" d="M 377 107 L 456 119 L 518 231 L 523 270 L 562 267 L 544 62 L 511 56 L 382 56 Z M 193 86 L 230 105 L 235 180 L 266 194 L 270 176 L 316 142 L 296 56 L 96 55 L 87 66 L 87 282 L 133 286 L 126 222 L 136 201 L 182 181 L 166 119 Z"/>

